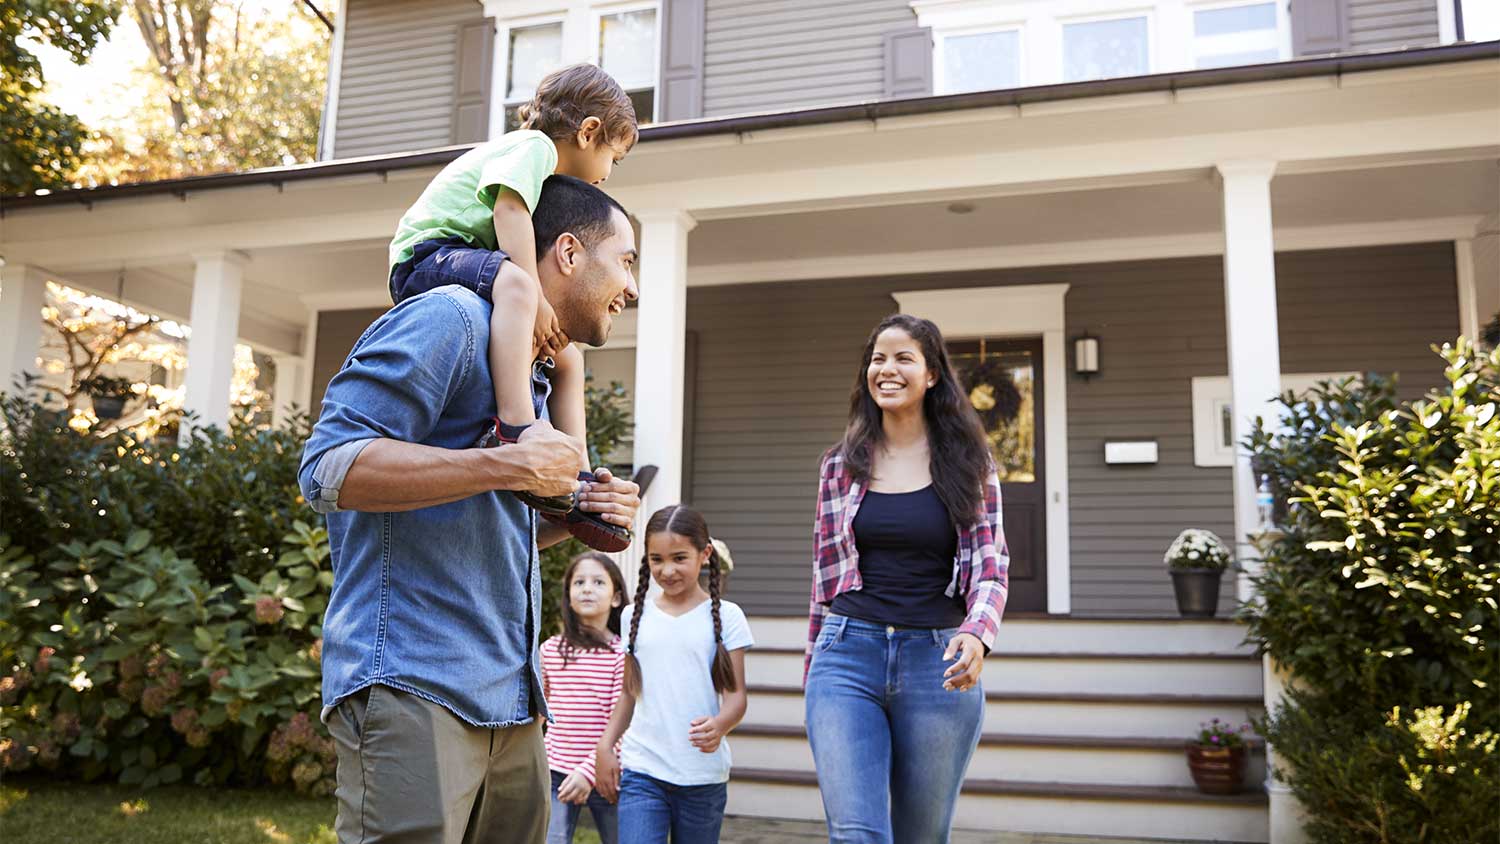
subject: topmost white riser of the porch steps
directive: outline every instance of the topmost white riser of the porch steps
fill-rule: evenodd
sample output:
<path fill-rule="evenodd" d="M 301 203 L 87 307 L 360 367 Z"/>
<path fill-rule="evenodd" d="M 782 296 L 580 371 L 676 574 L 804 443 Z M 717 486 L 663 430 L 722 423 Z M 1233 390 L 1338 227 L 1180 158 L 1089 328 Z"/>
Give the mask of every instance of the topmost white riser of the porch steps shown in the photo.
<path fill-rule="evenodd" d="M 753 616 L 758 646 L 804 648 L 806 616 Z M 1008 615 L 994 651 L 1002 654 L 1254 654 L 1245 625 L 1230 619 L 1143 619 Z"/>

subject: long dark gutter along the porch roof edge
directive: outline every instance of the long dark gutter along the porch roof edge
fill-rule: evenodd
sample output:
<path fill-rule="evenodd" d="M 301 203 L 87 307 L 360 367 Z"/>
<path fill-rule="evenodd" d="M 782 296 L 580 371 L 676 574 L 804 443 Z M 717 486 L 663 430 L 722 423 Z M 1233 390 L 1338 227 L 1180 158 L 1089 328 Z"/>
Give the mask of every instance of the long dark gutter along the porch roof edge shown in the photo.
<path fill-rule="evenodd" d="M 1431 64 L 1484 61 L 1496 58 L 1500 58 L 1500 40 L 1486 40 L 1479 43 L 1455 43 L 1448 46 L 1431 46 L 1422 49 L 1400 49 L 1389 52 L 1362 52 L 1356 55 L 1330 55 L 1324 58 L 1272 61 L 1266 64 L 1245 64 L 1239 67 L 1214 67 L 1206 70 L 1184 70 L 1178 73 L 1125 76 L 1119 79 L 1062 82 L 1054 85 L 1034 85 L 1026 88 L 1006 88 L 998 91 L 922 96 L 910 99 L 807 108 L 796 111 L 686 120 L 678 123 L 660 123 L 652 126 L 644 126 L 640 129 L 640 142 L 646 144 L 652 141 L 675 141 L 681 138 L 705 138 L 712 135 L 765 132 L 768 129 L 818 126 L 825 123 L 844 123 L 855 120 L 873 121 L 879 118 L 906 117 L 914 114 L 940 114 L 946 111 L 996 108 L 1008 105 L 1014 106 L 1014 105 L 1026 105 L 1036 102 L 1058 102 L 1058 100 L 1096 97 L 1096 96 L 1176 91 L 1186 88 L 1204 88 L 1212 85 L 1263 82 L 1275 79 L 1302 79 L 1310 76 L 1342 76 L 1344 73 L 1359 73 L 1368 70 L 1386 70 L 1395 67 L 1424 67 Z M 476 144 L 464 144 L 456 147 L 442 147 L 436 150 L 420 150 L 414 153 L 393 153 L 393 154 L 368 156 L 368 157 L 333 160 L 333 162 L 314 162 L 314 163 L 291 165 L 291 166 L 249 169 L 242 172 L 192 175 L 186 178 L 144 181 L 138 184 L 81 187 L 75 190 L 57 190 L 52 193 L 39 193 L 39 195 L 32 193 L 32 195 L 0 196 L 0 217 L 3 217 L 8 211 L 66 205 L 72 202 L 80 202 L 86 207 L 93 207 L 94 202 L 108 199 L 129 199 L 136 196 L 154 196 L 154 195 L 174 195 L 182 199 L 186 199 L 188 193 L 194 190 L 216 190 L 222 187 L 244 187 L 256 184 L 268 184 L 282 189 L 288 181 L 303 181 L 310 178 L 333 178 L 340 175 L 363 175 L 363 174 L 380 174 L 381 177 L 386 177 L 388 172 L 399 169 L 447 165 L 460 154 L 472 150 L 474 145 Z"/>

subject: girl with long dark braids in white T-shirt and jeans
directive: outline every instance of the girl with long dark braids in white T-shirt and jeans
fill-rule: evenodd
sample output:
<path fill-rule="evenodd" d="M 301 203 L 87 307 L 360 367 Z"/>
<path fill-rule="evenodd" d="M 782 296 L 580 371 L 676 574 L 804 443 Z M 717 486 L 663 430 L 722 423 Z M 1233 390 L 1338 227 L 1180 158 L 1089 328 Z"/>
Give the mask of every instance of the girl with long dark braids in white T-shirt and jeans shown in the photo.
<path fill-rule="evenodd" d="M 698 583 L 705 565 L 706 592 Z M 651 516 L 634 603 L 621 619 L 626 694 L 596 751 L 598 790 L 609 798 L 618 784 L 622 844 L 718 841 L 729 798 L 724 736 L 746 714 L 744 652 L 754 643 L 744 612 L 720 600 L 718 576 L 718 552 L 696 510 L 676 504 Z M 662 588 L 657 598 L 648 597 L 650 580 Z"/>

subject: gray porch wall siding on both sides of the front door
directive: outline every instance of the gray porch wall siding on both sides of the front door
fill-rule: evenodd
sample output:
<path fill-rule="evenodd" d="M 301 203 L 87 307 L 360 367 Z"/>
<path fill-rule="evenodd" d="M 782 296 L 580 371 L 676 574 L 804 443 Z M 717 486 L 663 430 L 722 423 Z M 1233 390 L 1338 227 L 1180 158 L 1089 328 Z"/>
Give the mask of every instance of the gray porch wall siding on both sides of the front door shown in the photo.
<path fill-rule="evenodd" d="M 1401 372 L 1408 396 L 1440 381 L 1426 346 L 1456 330 L 1450 244 L 1287 253 L 1276 273 L 1286 372 Z M 1074 612 L 1174 615 L 1162 550 L 1188 526 L 1232 534 L 1228 469 L 1192 465 L 1190 379 L 1227 370 L 1216 258 L 690 289 L 692 504 L 734 549 L 730 597 L 807 610 L 818 457 L 891 291 L 1054 282 L 1102 358 L 1066 384 Z M 1106 468 L 1106 438 L 1156 438 L 1161 460 Z"/>

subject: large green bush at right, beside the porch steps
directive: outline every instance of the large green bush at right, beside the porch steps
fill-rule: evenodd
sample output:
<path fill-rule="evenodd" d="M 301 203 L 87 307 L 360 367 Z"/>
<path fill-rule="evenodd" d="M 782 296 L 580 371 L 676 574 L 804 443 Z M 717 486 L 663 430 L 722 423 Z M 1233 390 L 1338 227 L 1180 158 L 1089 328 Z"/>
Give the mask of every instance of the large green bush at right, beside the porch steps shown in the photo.
<path fill-rule="evenodd" d="M 1282 397 L 1281 432 L 1250 442 L 1286 502 L 1245 618 L 1302 685 L 1268 730 L 1318 841 L 1468 840 L 1473 811 L 1426 796 L 1500 792 L 1500 354 L 1440 354 L 1448 387 L 1420 402 L 1377 376 L 1324 384 Z M 1412 786 L 1396 760 L 1425 759 L 1412 742 L 1434 708 L 1476 738 Z M 1394 804 L 1402 789 L 1422 799 Z"/>

